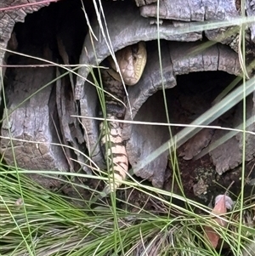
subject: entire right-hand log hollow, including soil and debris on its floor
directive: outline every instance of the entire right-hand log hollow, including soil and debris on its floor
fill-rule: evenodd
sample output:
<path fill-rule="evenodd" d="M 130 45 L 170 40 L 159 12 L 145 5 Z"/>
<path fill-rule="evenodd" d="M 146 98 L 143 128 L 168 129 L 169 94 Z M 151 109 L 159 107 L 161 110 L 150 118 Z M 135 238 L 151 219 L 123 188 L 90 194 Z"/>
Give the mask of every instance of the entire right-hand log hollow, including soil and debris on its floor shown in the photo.
<path fill-rule="evenodd" d="M 189 124 L 195 120 L 212 106 L 212 101 L 234 79 L 235 76 L 229 75 L 224 71 L 193 72 L 188 75 L 178 76 L 177 85 L 166 90 L 167 111 L 170 122 Z M 162 91 L 156 92 L 141 106 L 134 120 L 142 122 L 167 122 L 163 102 Z M 216 122 L 213 122 L 212 125 L 217 124 L 226 128 L 232 128 L 232 121 L 237 109 L 237 106 L 233 107 L 222 117 L 219 117 Z M 172 134 L 177 134 L 181 129 L 183 128 L 173 126 L 171 128 Z M 224 188 L 227 188 L 232 181 L 235 181 L 235 184 L 230 188 L 230 191 L 237 195 L 241 190 L 241 180 L 239 178 L 241 168 L 235 168 L 235 170 L 219 176 L 215 172 L 215 167 L 208 155 L 196 161 L 190 160 L 201 149 L 207 147 L 214 133 L 214 129 L 202 129 L 201 133 L 197 134 L 197 136 L 195 135 L 186 144 L 178 148 L 176 155 L 185 194 L 190 198 L 193 198 L 195 194 L 195 196 L 207 202 L 211 200 L 210 196 L 224 193 Z M 145 156 L 149 156 L 150 153 L 168 139 L 170 139 L 170 135 L 167 127 L 134 124 L 132 126 L 131 138 L 127 142 L 129 160 L 135 165 L 137 159 L 144 159 Z M 234 150 L 229 148 L 229 151 Z M 183 152 L 184 155 L 182 155 Z M 168 155 L 168 152 L 166 154 Z M 184 158 L 186 156 L 187 159 L 184 160 L 182 156 Z M 144 168 L 142 171 L 139 170 L 137 174 L 144 179 L 151 179 L 156 185 L 161 185 L 165 181 L 164 188 L 167 191 L 178 191 L 178 186 L 176 188 L 172 187 L 173 179 L 176 178 L 173 178 L 171 161 L 169 160 L 167 163 L 165 159 L 166 157 L 162 154 L 149 168 Z M 164 165 L 167 165 L 167 172 L 164 171 Z M 160 168 L 162 171 L 160 171 Z M 250 173 L 251 168 L 252 163 L 247 165 L 246 175 Z M 250 179 L 252 179 L 252 176 L 250 176 Z M 246 188 L 246 196 L 250 193 L 251 187 Z"/>

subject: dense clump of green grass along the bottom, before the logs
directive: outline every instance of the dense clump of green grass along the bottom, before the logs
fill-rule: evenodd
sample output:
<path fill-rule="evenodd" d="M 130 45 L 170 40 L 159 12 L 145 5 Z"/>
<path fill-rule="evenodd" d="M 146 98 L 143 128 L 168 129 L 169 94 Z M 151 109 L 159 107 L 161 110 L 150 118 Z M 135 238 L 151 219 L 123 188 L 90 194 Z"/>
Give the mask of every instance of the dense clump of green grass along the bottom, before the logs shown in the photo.
<path fill-rule="evenodd" d="M 4 168 L 0 173 L 1 255 L 218 254 L 203 236 L 203 227 L 212 225 L 206 215 L 210 208 L 183 196 L 144 186 L 151 200 L 160 202 L 161 210 L 149 212 L 136 207 L 135 211 L 127 211 L 107 204 L 94 209 L 77 208 L 68 198 L 43 189 L 24 174 L 19 174 L 20 186 L 10 171 Z M 170 203 L 163 196 L 173 196 L 191 208 Z M 195 208 L 205 211 L 198 214 L 192 210 Z M 252 212 L 252 205 L 247 209 Z M 215 226 L 234 255 L 239 242 L 241 248 L 246 247 L 255 237 L 252 226 L 239 226 L 238 213 L 236 209 L 235 218 L 229 218 L 231 228 Z"/>

